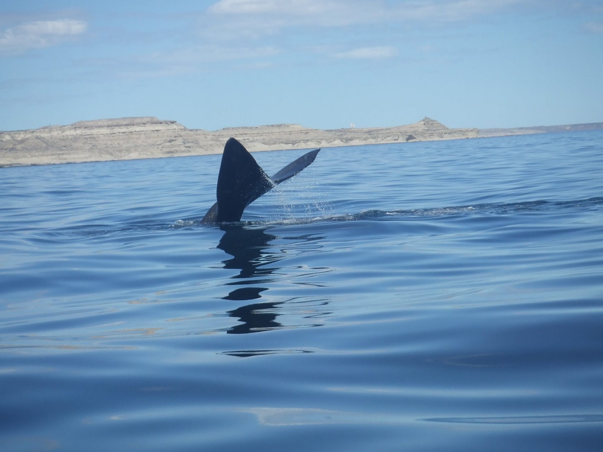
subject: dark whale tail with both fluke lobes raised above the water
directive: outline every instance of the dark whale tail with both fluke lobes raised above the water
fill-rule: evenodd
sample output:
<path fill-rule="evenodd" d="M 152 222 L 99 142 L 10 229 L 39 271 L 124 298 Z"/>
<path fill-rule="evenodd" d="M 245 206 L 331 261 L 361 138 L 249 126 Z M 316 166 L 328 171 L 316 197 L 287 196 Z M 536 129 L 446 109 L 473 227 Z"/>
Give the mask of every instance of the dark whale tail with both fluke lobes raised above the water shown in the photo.
<path fill-rule="evenodd" d="M 268 177 L 245 146 L 230 138 L 224 146 L 218 174 L 216 186 L 218 201 L 207 211 L 201 222 L 241 221 L 245 207 L 314 162 L 318 151 L 320 148 L 307 152 L 273 177 Z"/>

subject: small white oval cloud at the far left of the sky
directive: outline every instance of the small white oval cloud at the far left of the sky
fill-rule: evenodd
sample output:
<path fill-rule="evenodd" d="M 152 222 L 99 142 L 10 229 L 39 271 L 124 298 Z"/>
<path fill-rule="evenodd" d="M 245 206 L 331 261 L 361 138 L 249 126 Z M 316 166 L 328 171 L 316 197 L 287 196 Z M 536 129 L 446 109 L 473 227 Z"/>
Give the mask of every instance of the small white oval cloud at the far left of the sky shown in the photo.
<path fill-rule="evenodd" d="M 86 32 L 83 20 L 59 19 L 25 22 L 8 28 L 0 35 L 0 52 L 19 54 L 28 49 L 40 49 L 64 42 Z"/>

